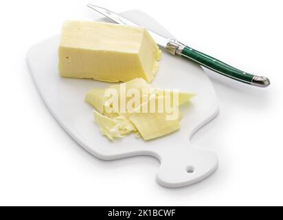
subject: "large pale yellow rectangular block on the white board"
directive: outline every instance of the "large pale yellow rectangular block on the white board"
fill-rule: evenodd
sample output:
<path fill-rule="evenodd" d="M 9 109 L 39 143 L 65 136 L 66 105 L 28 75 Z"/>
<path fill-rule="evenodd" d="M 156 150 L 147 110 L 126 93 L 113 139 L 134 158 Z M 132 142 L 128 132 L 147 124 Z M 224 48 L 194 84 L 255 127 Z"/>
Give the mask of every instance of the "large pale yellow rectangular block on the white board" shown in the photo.
<path fill-rule="evenodd" d="M 65 21 L 58 48 L 60 76 L 126 82 L 157 72 L 161 50 L 144 28 Z"/>

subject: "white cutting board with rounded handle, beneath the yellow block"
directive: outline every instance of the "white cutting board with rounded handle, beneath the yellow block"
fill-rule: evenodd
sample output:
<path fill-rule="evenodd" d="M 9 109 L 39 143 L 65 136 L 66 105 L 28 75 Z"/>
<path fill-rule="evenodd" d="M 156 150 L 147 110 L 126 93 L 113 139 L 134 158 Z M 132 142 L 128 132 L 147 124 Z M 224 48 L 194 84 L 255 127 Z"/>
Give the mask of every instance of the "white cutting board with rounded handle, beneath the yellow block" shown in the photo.
<path fill-rule="evenodd" d="M 172 37 L 144 12 L 131 10 L 122 15 L 163 36 Z M 49 111 L 84 149 L 106 160 L 137 155 L 156 157 L 161 162 L 157 182 L 170 188 L 194 184 L 216 170 L 216 154 L 193 148 L 189 142 L 194 132 L 218 113 L 216 94 L 199 65 L 163 51 L 159 71 L 152 82 L 155 87 L 197 94 L 190 104 L 181 107 L 183 118 L 179 131 L 147 142 L 134 135 L 111 142 L 100 134 L 98 125 L 93 121 L 92 107 L 84 102 L 87 91 L 93 87 L 108 87 L 109 83 L 60 78 L 57 69 L 58 40 L 59 35 L 34 45 L 27 53 L 27 63 Z"/>

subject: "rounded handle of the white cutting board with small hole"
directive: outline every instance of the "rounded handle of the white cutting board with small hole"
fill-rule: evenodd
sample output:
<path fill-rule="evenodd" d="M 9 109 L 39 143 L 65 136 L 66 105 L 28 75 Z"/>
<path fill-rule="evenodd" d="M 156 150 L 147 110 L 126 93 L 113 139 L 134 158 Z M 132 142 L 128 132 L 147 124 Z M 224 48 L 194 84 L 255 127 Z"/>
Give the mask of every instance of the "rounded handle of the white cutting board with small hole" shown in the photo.
<path fill-rule="evenodd" d="M 193 148 L 188 143 L 170 149 L 162 153 L 156 175 L 161 186 L 179 188 L 195 184 L 211 175 L 218 166 L 218 158 L 211 151 Z"/>

